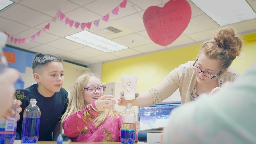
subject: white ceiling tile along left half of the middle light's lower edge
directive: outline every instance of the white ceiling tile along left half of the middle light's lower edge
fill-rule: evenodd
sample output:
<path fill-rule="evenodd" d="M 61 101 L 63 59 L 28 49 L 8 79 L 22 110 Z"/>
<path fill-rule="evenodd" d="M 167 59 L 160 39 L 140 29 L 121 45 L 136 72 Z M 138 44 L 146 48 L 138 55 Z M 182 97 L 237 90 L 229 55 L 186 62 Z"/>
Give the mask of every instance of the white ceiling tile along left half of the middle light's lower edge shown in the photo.
<path fill-rule="evenodd" d="M 46 45 L 49 45 L 49 46 L 52 46 L 55 48 L 61 48 L 62 50 L 67 51 L 67 52 L 85 47 L 85 45 L 83 45 L 83 44 L 73 42 L 66 38 L 61 38 L 61 39 L 52 41 L 50 43 L 47 43 Z"/>

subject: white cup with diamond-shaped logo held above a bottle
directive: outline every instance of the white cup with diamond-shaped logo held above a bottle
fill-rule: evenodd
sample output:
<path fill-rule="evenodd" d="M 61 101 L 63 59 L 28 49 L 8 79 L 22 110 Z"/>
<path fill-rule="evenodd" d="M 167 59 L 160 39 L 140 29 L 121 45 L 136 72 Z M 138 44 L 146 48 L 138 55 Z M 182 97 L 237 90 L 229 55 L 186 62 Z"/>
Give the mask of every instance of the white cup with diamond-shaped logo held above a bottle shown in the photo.
<path fill-rule="evenodd" d="M 123 88 L 125 100 L 135 99 L 137 79 L 138 79 L 138 76 L 136 75 L 121 76 L 122 88 Z"/>

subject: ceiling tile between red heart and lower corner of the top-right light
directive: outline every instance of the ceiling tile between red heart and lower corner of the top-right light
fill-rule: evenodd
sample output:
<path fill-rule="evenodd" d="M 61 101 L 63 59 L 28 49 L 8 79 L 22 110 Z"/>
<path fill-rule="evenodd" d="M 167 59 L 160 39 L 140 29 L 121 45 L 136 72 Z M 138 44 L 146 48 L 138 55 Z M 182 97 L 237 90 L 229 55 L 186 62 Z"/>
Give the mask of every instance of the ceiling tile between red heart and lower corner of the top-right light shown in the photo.
<path fill-rule="evenodd" d="M 188 35 L 218 27 L 219 26 L 215 22 L 204 15 L 200 15 L 191 18 L 188 27 L 184 30 L 183 34 Z"/>

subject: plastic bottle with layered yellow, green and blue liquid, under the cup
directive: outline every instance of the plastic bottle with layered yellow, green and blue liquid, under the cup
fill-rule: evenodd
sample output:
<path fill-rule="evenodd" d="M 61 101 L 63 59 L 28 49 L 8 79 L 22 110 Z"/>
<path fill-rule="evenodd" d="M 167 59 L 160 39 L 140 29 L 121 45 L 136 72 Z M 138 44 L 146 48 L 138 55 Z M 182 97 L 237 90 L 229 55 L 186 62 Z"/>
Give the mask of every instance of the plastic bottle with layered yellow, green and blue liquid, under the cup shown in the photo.
<path fill-rule="evenodd" d="M 122 113 L 121 143 L 133 144 L 135 142 L 135 132 L 136 132 L 136 115 L 132 109 L 132 104 L 127 103 L 126 108 Z"/>

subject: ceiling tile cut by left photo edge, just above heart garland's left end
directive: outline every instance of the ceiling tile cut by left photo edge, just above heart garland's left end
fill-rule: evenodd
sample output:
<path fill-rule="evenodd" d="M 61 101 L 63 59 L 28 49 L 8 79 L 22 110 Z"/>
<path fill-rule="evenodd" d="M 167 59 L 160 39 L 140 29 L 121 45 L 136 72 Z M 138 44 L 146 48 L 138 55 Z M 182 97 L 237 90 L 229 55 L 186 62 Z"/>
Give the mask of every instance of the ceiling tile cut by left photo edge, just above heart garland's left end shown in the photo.
<path fill-rule="evenodd" d="M 17 23 L 12 20 L 5 19 L 0 17 L 0 31 L 5 31 L 9 35 L 16 35 L 22 31 L 28 30 L 30 27 L 23 24 Z"/>

